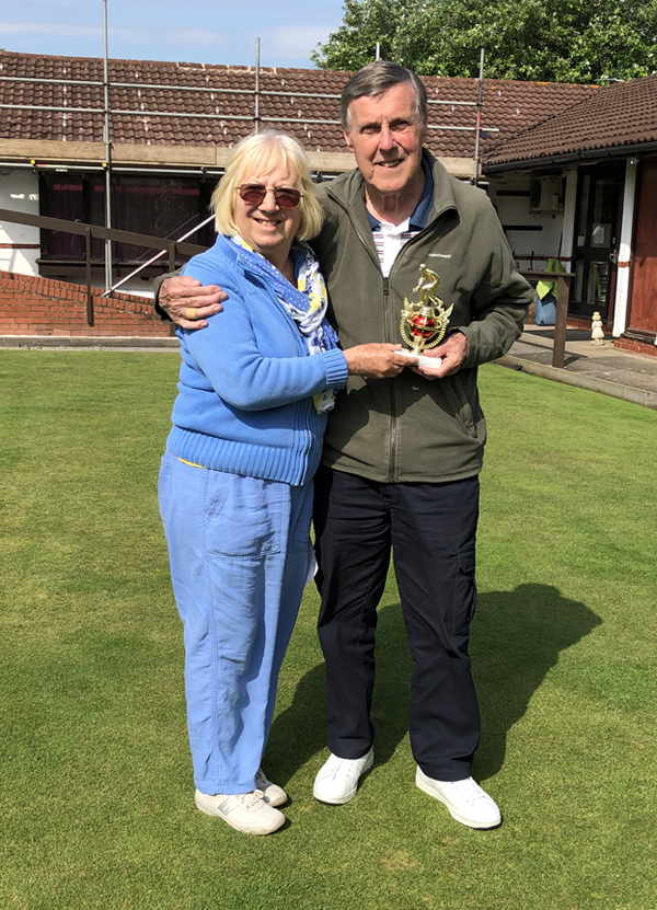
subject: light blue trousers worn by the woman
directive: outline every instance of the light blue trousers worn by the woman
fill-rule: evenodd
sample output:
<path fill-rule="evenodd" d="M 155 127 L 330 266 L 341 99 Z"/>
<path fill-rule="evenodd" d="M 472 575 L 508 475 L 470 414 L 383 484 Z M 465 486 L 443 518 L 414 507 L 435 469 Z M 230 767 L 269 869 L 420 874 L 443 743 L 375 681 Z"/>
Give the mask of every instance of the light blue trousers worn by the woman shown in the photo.
<path fill-rule="evenodd" d="M 185 640 L 187 726 L 201 793 L 249 793 L 312 561 L 312 484 L 162 458 L 160 514 Z"/>

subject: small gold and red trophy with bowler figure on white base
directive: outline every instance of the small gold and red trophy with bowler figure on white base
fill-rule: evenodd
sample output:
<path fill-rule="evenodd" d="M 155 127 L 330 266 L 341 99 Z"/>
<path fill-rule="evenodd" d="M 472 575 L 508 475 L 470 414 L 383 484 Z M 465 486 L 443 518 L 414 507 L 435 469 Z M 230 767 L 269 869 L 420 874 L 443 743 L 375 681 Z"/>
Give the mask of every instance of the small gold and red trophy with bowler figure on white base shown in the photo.
<path fill-rule="evenodd" d="M 419 266 L 419 281 L 417 287 L 413 288 L 413 293 L 419 292 L 419 300 L 417 303 L 408 302 L 408 298 L 404 297 L 404 309 L 402 310 L 402 323 L 400 332 L 402 338 L 413 350 L 402 350 L 405 357 L 417 357 L 422 367 L 429 367 L 438 369 L 441 364 L 441 357 L 424 357 L 423 350 L 429 350 L 431 347 L 439 345 L 447 326 L 449 325 L 449 318 L 454 306 L 445 309 L 445 303 L 436 296 L 435 291 L 440 284 L 440 278 L 430 268 L 427 268 L 423 263 Z"/>

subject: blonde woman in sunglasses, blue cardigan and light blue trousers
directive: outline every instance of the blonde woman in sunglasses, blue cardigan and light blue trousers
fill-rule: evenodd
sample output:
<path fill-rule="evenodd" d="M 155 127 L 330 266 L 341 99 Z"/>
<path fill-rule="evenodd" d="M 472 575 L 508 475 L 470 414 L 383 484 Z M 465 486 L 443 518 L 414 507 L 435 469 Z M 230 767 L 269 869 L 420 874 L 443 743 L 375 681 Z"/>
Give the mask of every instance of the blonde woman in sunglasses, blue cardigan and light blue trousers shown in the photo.
<path fill-rule="evenodd" d="M 322 224 L 295 139 L 235 148 L 212 196 L 217 242 L 184 274 L 228 293 L 203 332 L 178 329 L 160 511 L 184 624 L 197 807 L 253 834 L 285 822 L 261 769 L 280 665 L 312 576 L 312 476 L 349 372 L 395 376 L 394 345 L 343 352 L 307 240 Z"/>

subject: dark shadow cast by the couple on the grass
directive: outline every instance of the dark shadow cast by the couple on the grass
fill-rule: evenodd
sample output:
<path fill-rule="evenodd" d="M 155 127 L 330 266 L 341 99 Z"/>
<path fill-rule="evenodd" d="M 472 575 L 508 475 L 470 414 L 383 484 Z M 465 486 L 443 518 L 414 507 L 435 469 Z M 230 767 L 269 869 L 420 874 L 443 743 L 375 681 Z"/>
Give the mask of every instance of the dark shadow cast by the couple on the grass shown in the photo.
<path fill-rule="evenodd" d="M 486 780 L 502 768 L 507 733 L 527 711 L 560 652 L 600 623 L 585 603 L 562 597 L 550 585 L 520 585 L 514 591 L 480 595 L 471 636 L 483 725 L 475 769 L 479 779 Z M 389 604 L 379 612 L 377 630 L 372 722 L 378 764 L 384 764 L 406 736 L 412 666 L 400 604 Z M 292 704 L 274 722 L 267 751 L 284 784 L 326 745 L 324 678 L 323 665 L 306 673 Z"/>

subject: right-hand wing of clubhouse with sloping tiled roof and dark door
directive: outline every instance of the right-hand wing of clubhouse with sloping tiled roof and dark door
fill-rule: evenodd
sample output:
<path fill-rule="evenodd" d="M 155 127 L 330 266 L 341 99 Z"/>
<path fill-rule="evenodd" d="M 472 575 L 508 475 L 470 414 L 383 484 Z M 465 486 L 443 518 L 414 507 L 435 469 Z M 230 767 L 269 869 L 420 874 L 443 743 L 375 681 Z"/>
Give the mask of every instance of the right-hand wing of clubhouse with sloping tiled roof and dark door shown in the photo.
<path fill-rule="evenodd" d="M 523 181 L 530 208 L 554 208 L 558 252 L 575 273 L 569 316 L 590 322 L 598 310 L 619 347 L 653 353 L 657 77 L 593 93 L 499 142 L 484 166 L 491 187 L 497 180 Z"/>

